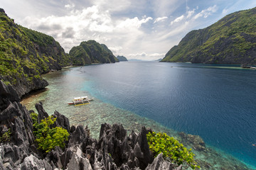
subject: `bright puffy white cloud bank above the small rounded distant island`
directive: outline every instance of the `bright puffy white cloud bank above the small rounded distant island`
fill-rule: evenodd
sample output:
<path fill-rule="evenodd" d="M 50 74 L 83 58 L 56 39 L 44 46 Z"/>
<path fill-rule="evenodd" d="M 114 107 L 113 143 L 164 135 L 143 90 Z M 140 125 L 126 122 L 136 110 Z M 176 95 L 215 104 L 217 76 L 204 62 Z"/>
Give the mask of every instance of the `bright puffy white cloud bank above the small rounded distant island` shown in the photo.
<path fill-rule="evenodd" d="M 153 18 L 112 18 L 110 11 L 102 11 L 101 6 L 89 6 L 81 10 L 70 9 L 65 16 L 48 16 L 44 18 L 24 18 L 28 28 L 52 35 L 68 52 L 81 41 L 97 40 L 100 43 L 120 42 L 120 45 L 134 45 L 143 36 L 142 24 Z M 72 39 L 73 41 L 70 42 Z M 121 46 L 120 46 L 121 47 Z M 122 48 L 120 49 L 122 50 Z M 120 51 L 119 50 L 119 51 Z"/>

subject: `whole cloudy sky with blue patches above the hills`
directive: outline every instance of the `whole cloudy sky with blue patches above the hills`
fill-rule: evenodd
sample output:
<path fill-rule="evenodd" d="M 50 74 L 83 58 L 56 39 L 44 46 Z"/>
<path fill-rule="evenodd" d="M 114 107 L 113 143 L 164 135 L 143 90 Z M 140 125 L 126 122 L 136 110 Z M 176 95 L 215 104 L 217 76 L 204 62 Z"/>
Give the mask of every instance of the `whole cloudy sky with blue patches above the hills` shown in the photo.
<path fill-rule="evenodd" d="M 53 36 L 69 52 L 96 40 L 114 55 L 157 60 L 191 30 L 253 8 L 255 0 L 0 0 L 21 26 Z"/>

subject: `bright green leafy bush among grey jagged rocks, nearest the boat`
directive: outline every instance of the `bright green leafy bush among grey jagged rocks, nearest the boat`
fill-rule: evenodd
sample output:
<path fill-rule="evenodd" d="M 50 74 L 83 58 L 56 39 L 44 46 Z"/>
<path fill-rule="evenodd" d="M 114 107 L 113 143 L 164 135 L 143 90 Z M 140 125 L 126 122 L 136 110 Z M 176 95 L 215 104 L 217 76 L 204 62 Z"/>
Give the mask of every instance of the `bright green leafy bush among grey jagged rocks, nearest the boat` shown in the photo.
<path fill-rule="evenodd" d="M 41 120 L 41 123 L 38 123 L 38 115 L 36 113 L 31 113 L 31 118 L 33 120 L 33 132 L 36 135 L 36 142 L 38 142 L 38 149 L 50 152 L 57 146 L 65 147 L 65 141 L 68 141 L 69 133 L 60 127 L 50 128 L 50 125 L 53 125 L 56 120 L 56 118 L 53 118 L 53 115 Z"/>

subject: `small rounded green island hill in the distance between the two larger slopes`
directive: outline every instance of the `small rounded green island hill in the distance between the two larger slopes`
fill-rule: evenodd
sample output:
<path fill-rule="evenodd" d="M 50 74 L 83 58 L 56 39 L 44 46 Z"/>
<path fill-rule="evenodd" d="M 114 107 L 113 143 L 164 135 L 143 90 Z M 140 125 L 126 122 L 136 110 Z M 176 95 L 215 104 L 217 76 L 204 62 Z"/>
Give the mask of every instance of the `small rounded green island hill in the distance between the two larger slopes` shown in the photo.
<path fill-rule="evenodd" d="M 106 45 L 95 40 L 81 42 L 70 50 L 69 55 L 73 57 L 75 65 L 118 62 Z"/>

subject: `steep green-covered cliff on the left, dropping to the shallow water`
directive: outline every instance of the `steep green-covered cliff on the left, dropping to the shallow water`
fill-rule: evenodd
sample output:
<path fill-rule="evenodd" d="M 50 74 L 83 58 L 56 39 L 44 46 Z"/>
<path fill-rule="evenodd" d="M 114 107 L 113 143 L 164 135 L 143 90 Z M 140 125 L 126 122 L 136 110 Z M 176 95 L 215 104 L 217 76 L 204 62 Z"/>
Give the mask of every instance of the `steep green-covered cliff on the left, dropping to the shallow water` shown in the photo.
<path fill-rule="evenodd" d="M 70 65 L 70 56 L 49 35 L 14 23 L 0 8 L 0 79 L 23 96 L 48 85 L 41 74 Z"/>

